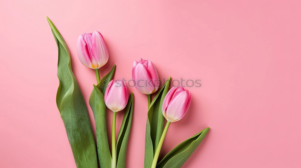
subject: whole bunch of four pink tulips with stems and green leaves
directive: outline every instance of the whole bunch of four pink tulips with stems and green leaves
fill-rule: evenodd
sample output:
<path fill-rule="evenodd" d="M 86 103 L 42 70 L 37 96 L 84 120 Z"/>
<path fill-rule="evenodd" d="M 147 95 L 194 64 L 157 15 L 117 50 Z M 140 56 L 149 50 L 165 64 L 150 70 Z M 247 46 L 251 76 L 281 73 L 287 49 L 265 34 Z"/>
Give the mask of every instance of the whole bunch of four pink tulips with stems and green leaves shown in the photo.
<path fill-rule="evenodd" d="M 129 94 L 124 80 L 113 80 L 116 65 L 108 74 L 100 77 L 99 69 L 109 59 L 109 52 L 101 33 L 95 31 L 80 35 L 77 40 L 79 61 L 95 70 L 97 81 L 96 85 L 93 84 L 89 98 L 95 119 L 95 143 L 87 107 L 71 68 L 69 49 L 57 28 L 48 17 L 47 19 L 58 48 L 57 76 L 60 83 L 56 103 L 66 128 L 76 167 L 124 168 L 134 110 L 133 93 Z M 148 101 L 144 168 L 181 167 L 196 150 L 209 128 L 183 141 L 161 160 L 159 154 L 171 123 L 181 120 L 187 113 L 191 92 L 182 86 L 169 90 L 171 77 L 160 88 L 158 72 L 150 60 L 134 61 L 132 79 L 137 90 L 147 95 Z M 153 99 L 152 94 L 155 94 Z M 106 107 L 113 113 L 111 151 L 107 137 Z M 116 140 L 116 115 L 123 109 L 123 121 Z"/>

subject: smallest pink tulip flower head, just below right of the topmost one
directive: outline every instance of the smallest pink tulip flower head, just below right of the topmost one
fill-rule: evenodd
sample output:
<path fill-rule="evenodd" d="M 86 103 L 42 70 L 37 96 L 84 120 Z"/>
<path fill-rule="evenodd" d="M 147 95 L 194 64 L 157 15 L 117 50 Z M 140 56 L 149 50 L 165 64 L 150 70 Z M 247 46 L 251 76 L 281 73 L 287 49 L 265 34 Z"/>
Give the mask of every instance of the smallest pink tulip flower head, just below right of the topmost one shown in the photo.
<path fill-rule="evenodd" d="M 104 93 L 104 102 L 113 112 L 118 112 L 126 107 L 129 99 L 129 90 L 126 82 L 123 80 L 111 80 L 106 92 Z"/>

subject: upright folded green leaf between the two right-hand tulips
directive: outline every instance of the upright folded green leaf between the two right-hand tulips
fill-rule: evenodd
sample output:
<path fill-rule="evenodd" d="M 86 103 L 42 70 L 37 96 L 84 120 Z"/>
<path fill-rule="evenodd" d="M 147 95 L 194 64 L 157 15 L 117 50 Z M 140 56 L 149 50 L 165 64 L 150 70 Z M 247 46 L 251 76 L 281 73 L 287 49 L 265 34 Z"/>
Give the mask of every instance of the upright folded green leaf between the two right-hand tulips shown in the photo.
<path fill-rule="evenodd" d="M 168 92 L 171 77 L 165 82 L 160 91 L 151 102 L 147 112 L 145 131 L 145 153 L 144 168 L 150 168 L 154 159 L 154 152 L 157 149 L 164 127 L 162 115 L 162 103 Z"/>

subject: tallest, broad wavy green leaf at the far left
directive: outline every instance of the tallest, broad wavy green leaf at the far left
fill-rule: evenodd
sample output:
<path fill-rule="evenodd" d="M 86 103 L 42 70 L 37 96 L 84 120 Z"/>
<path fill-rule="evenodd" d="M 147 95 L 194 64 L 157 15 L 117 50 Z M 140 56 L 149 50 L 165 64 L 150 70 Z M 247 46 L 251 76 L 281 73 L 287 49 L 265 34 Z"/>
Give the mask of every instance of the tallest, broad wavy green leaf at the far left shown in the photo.
<path fill-rule="evenodd" d="M 47 17 L 57 43 L 57 108 L 64 122 L 76 167 L 97 168 L 95 140 L 82 92 L 71 69 L 70 52 L 62 35 Z"/>

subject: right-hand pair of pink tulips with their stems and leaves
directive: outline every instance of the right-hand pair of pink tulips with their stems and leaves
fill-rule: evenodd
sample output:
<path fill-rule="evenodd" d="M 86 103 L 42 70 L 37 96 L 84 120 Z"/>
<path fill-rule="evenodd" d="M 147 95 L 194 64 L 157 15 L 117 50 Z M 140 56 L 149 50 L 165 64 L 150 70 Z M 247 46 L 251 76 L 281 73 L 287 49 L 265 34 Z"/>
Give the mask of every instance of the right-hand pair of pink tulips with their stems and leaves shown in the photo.
<path fill-rule="evenodd" d="M 150 60 L 134 61 L 132 78 L 137 84 L 135 85 L 137 90 L 147 95 L 148 102 L 144 168 L 181 167 L 206 136 L 209 127 L 180 143 L 160 162 L 158 162 L 158 158 L 169 125 L 181 120 L 187 113 L 191 103 L 191 92 L 182 86 L 172 87 L 168 90 L 171 80 L 169 77 L 151 100 L 151 94 L 159 89 L 160 81 L 156 67 Z M 145 83 L 148 85 L 143 85 Z M 165 127 L 164 118 L 166 119 Z"/>

